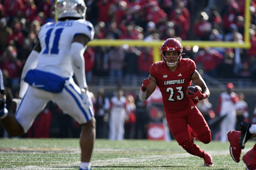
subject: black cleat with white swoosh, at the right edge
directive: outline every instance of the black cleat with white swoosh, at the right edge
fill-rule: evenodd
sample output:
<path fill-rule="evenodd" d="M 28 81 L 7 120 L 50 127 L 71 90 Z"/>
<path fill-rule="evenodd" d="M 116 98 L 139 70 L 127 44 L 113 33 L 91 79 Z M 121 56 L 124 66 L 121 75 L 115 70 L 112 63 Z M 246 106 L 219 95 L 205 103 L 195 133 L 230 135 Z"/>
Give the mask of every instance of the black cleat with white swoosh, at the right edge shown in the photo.
<path fill-rule="evenodd" d="M 240 146 L 241 148 L 245 148 L 245 143 L 250 139 L 251 133 L 249 132 L 249 128 L 251 127 L 251 124 L 247 122 L 242 122 L 240 124 L 240 130 L 241 130 L 241 136 L 240 136 Z"/>

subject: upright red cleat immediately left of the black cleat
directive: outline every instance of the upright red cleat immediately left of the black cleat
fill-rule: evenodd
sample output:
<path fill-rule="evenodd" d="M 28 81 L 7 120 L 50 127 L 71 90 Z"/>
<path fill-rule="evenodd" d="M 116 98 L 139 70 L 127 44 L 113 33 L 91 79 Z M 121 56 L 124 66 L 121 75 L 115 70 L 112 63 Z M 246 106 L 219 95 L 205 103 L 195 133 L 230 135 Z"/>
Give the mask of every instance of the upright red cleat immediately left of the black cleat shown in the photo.
<path fill-rule="evenodd" d="M 240 162 L 241 147 L 239 145 L 239 137 L 241 132 L 230 130 L 227 133 L 227 139 L 229 140 L 230 147 L 229 153 L 235 162 Z"/>

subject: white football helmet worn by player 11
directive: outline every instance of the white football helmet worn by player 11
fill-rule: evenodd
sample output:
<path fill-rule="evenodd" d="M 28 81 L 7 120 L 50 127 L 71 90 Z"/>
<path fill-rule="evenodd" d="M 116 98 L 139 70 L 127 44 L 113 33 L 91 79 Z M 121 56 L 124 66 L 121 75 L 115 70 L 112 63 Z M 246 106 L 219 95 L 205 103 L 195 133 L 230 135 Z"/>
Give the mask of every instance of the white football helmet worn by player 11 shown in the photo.
<path fill-rule="evenodd" d="M 55 8 L 58 20 L 68 17 L 85 19 L 86 5 L 83 0 L 57 0 Z"/>

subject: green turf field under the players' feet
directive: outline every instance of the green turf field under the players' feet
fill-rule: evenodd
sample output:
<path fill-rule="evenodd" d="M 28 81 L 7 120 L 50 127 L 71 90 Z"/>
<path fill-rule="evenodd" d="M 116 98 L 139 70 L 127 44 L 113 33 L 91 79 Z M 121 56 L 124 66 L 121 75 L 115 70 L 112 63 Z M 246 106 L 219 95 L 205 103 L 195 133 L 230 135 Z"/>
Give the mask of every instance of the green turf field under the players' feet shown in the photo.
<path fill-rule="evenodd" d="M 96 139 L 91 169 L 104 170 L 235 170 L 245 169 L 242 161 L 235 163 L 229 154 L 229 142 L 211 141 L 203 144 L 195 141 L 211 154 L 214 167 L 203 167 L 203 159 L 188 154 L 174 140 L 124 140 Z M 241 157 L 255 141 L 248 141 Z M 0 169 L 6 170 L 78 170 L 80 163 L 79 139 L 0 139 Z"/>

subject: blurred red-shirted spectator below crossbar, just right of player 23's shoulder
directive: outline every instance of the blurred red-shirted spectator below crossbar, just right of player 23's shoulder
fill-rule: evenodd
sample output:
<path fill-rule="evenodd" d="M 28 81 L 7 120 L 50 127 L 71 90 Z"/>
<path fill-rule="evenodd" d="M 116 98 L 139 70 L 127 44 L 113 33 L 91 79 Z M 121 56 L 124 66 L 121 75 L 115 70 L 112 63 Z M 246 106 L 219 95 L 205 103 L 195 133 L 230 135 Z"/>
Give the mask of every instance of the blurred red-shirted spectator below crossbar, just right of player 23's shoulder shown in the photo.
<path fill-rule="evenodd" d="M 218 66 L 221 64 L 223 55 L 215 49 L 205 47 L 199 52 L 199 55 L 194 60 L 195 63 L 201 62 L 205 71 L 205 74 L 216 78 Z"/>

